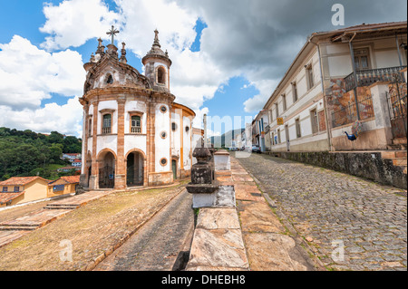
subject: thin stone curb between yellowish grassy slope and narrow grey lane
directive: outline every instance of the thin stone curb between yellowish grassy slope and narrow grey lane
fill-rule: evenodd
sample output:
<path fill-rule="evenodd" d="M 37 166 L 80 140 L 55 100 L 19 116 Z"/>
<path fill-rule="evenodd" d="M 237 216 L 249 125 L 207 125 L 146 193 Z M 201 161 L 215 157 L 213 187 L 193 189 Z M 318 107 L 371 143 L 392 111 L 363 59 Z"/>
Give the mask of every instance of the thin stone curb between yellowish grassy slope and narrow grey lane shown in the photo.
<path fill-rule="evenodd" d="M 149 188 L 149 189 L 154 189 L 154 188 Z M 181 192 L 186 189 L 186 188 L 180 188 L 180 191 L 174 195 L 173 197 L 170 198 L 169 201 L 167 201 L 165 204 L 163 204 L 163 206 L 161 206 L 160 208 L 158 208 L 155 212 L 153 212 L 151 214 L 150 217 L 145 218 L 141 224 L 139 224 L 138 226 L 136 226 L 133 230 L 131 230 L 130 232 L 126 233 L 125 236 L 123 236 L 121 238 L 121 240 L 119 240 L 117 243 L 115 243 L 114 245 L 112 245 L 110 248 L 108 248 L 105 252 L 103 252 L 101 255 L 97 256 L 95 259 L 93 259 L 93 261 L 91 261 L 88 265 L 83 266 L 82 269 L 80 269 L 80 271 L 92 271 L 97 265 L 99 265 L 107 256 L 112 255 L 112 253 L 118 249 L 120 246 L 123 245 L 123 243 L 125 243 L 127 240 L 129 240 L 131 238 L 131 236 L 133 236 L 140 228 L 141 226 L 144 226 L 147 222 L 149 222 L 151 220 L 152 217 L 156 216 L 164 207 L 166 207 L 175 197 L 179 196 L 181 194 Z"/>

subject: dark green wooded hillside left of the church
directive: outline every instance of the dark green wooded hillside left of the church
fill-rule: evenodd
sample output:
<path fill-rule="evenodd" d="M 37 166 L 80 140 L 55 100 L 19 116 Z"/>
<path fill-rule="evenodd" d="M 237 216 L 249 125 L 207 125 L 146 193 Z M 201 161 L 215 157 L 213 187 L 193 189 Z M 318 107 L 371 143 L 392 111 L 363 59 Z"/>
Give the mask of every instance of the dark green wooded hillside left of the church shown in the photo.
<path fill-rule="evenodd" d="M 64 153 L 81 153 L 82 140 L 52 131 L 49 135 L 32 130 L 0 127 L 0 179 L 38 175 L 52 178 L 52 164 L 66 166 Z"/>

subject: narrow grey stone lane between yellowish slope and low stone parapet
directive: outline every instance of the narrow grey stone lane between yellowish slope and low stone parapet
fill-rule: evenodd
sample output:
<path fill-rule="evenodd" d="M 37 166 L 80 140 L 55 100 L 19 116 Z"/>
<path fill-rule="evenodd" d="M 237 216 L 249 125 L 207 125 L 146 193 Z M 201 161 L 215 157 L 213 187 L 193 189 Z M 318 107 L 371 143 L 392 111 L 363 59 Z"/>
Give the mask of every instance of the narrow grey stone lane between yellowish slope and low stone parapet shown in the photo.
<path fill-rule="evenodd" d="M 194 226 L 191 203 L 192 196 L 183 189 L 93 270 L 178 270 L 174 266 L 187 254 L 191 243 Z"/>

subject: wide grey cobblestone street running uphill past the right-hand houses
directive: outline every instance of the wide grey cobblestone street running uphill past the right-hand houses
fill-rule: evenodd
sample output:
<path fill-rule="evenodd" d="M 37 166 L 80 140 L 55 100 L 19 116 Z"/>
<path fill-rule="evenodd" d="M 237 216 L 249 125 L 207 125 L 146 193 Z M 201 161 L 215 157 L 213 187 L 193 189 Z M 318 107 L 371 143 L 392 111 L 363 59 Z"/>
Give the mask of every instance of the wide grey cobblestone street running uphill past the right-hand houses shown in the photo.
<path fill-rule="evenodd" d="M 402 189 L 266 155 L 238 161 L 327 269 L 406 270 Z"/>

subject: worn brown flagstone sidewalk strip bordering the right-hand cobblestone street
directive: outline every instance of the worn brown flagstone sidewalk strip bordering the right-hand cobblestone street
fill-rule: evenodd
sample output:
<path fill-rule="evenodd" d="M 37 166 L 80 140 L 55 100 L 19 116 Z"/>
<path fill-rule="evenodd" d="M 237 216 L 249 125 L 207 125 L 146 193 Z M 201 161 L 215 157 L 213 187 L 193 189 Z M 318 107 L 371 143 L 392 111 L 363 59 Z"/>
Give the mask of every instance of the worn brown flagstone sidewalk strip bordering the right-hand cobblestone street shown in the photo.
<path fill-rule="evenodd" d="M 254 179 L 231 156 L 231 170 L 217 172 L 221 186 L 234 186 L 238 218 L 252 271 L 314 271 L 324 269 L 310 259 L 300 242 L 288 235 L 257 188 Z"/>

